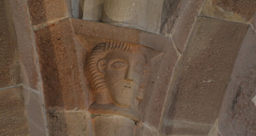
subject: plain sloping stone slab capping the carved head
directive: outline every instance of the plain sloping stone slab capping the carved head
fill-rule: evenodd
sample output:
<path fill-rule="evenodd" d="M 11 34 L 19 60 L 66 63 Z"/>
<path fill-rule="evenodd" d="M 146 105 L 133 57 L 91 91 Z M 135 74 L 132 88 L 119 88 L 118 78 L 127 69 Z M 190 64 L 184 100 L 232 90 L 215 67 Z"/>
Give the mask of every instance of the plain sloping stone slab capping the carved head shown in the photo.
<path fill-rule="evenodd" d="M 96 38 L 123 41 L 126 43 L 143 45 L 158 51 L 164 51 L 170 39 L 162 35 L 149 33 L 146 31 L 115 27 L 109 24 L 92 22 L 81 19 L 70 18 L 75 34 Z M 91 40 L 91 41 L 93 41 Z M 91 47 L 92 49 L 93 47 Z M 91 50 L 90 49 L 90 50 Z"/>

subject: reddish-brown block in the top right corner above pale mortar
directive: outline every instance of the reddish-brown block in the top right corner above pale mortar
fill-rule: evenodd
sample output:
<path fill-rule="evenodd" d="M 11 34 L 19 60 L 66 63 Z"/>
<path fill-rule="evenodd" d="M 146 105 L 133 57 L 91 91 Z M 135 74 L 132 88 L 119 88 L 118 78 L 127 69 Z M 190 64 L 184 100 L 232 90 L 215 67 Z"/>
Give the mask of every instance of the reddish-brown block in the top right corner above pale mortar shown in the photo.
<path fill-rule="evenodd" d="M 202 14 L 227 21 L 246 23 L 255 15 L 255 6 L 255 0 L 207 0 Z"/>

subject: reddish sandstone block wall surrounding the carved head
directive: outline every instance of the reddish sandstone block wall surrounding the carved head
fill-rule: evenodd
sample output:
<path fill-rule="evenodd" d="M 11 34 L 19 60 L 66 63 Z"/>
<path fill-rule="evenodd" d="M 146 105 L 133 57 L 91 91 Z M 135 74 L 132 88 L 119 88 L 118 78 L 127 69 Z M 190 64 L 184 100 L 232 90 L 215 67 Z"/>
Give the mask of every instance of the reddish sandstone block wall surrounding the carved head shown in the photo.
<path fill-rule="evenodd" d="M 256 134 L 254 0 L 98 2 L 0 2 L 0 135 L 93 136 L 87 58 L 105 40 L 161 52 L 134 136 Z"/>

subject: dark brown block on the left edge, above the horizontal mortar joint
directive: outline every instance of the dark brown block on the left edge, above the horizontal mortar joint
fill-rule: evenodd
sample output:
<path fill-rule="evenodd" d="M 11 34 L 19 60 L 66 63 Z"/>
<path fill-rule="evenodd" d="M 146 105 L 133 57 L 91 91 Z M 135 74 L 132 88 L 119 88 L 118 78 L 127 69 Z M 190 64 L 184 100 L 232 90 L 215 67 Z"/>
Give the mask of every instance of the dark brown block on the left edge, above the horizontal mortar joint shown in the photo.
<path fill-rule="evenodd" d="M 15 31 L 8 0 L 0 1 L 0 88 L 20 83 Z"/>

